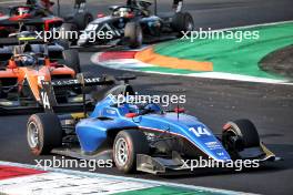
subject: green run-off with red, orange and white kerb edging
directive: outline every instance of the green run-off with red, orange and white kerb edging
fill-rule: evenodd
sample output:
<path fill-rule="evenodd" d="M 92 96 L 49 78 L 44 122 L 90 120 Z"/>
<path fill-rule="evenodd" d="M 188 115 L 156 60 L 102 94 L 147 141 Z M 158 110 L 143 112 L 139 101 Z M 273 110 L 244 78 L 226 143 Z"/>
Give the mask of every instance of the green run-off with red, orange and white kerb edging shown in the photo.
<path fill-rule="evenodd" d="M 216 31 L 223 33 L 214 39 L 189 37 L 141 51 L 101 52 L 92 61 L 118 70 L 292 84 L 290 78 L 265 72 L 260 66 L 267 54 L 293 44 L 292 29 L 292 21 L 232 28 Z M 234 37 L 254 32 L 257 39 Z"/>

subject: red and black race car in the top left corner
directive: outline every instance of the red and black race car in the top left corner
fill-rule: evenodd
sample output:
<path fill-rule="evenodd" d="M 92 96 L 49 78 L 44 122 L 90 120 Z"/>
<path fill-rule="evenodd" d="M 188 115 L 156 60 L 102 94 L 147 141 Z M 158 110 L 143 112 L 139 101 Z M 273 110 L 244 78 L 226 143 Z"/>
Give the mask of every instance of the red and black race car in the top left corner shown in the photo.
<path fill-rule="evenodd" d="M 0 38 L 20 31 L 84 30 L 87 24 L 93 20 L 92 14 L 85 11 L 84 6 L 85 0 L 75 0 L 73 13 L 65 17 L 55 16 L 33 1 L 24 6 L 10 7 L 6 13 L 0 13 Z M 60 10 L 59 4 L 58 10 Z"/>

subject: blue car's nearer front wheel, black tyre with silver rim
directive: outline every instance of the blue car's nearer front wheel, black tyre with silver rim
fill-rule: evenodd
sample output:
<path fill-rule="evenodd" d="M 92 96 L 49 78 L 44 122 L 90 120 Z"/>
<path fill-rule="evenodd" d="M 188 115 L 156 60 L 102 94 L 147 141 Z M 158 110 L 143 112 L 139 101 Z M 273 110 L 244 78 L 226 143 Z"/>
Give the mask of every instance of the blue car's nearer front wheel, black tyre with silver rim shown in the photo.
<path fill-rule="evenodd" d="M 137 154 L 149 154 L 150 147 L 143 132 L 139 130 L 124 130 L 118 133 L 113 144 L 113 160 L 119 171 L 134 172 L 137 168 Z"/>

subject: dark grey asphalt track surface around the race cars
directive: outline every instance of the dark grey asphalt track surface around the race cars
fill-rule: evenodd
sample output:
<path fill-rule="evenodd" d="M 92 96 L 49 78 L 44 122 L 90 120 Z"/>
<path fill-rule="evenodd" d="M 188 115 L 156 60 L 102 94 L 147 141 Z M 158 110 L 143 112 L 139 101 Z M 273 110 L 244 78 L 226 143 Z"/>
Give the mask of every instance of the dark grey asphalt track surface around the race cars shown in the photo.
<path fill-rule="evenodd" d="M 101 1 L 101 6 L 92 2 L 90 1 L 90 9 L 97 12 L 104 10 L 110 1 Z M 169 10 L 168 2 L 168 0 L 160 1 L 162 11 Z M 229 28 L 293 19 L 291 0 L 189 0 L 188 3 L 188 8 L 193 10 L 195 23 L 204 28 Z M 91 54 L 80 53 L 83 71 L 115 75 L 124 73 L 93 65 L 89 60 Z M 139 79 L 132 84 L 137 91 L 144 94 L 173 94 L 183 90 L 188 98 L 188 103 L 184 105 L 188 112 L 205 122 L 215 133 L 221 132 L 221 126 L 226 121 L 251 119 L 257 126 L 262 141 L 285 161 L 241 173 L 199 170 L 180 176 L 159 177 L 142 173 L 129 176 L 250 193 L 292 194 L 292 86 L 144 73 L 137 75 Z M 36 164 L 36 156 L 30 154 L 27 146 L 27 119 L 28 116 L 0 117 L 1 161 Z M 41 158 L 52 158 L 52 156 L 41 156 Z M 100 168 L 97 172 L 121 175 L 115 168 Z"/>

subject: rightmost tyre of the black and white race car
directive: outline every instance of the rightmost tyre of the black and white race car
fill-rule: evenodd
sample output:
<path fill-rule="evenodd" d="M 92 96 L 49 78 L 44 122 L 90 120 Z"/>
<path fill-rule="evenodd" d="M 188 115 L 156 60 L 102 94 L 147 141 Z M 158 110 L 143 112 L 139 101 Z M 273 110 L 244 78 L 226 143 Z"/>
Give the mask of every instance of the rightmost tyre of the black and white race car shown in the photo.
<path fill-rule="evenodd" d="M 183 35 L 183 32 L 191 32 L 194 30 L 194 21 L 190 13 L 178 12 L 172 19 L 172 28 L 180 35 Z"/>

